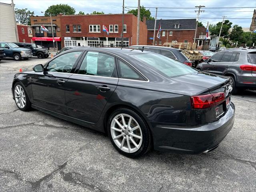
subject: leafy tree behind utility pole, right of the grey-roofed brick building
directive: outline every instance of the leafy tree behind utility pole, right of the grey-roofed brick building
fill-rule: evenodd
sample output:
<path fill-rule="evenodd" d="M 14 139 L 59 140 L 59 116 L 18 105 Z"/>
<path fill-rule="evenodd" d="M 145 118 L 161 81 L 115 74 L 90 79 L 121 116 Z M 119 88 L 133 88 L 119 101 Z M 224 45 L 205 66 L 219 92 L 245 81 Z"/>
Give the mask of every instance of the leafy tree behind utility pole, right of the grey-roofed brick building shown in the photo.
<path fill-rule="evenodd" d="M 221 23 L 222 22 L 218 22 L 216 25 L 210 24 L 209 31 L 211 32 L 211 35 L 218 36 L 220 34 L 221 37 L 227 38 L 232 22 L 230 22 L 229 20 L 225 20 L 220 33 Z"/>

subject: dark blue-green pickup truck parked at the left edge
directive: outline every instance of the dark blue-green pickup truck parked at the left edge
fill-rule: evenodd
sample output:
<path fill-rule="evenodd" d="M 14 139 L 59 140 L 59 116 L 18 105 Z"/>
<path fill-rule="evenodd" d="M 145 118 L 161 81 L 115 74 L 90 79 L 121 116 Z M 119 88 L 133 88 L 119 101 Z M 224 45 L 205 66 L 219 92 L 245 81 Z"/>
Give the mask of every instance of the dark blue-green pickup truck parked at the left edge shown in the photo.
<path fill-rule="evenodd" d="M 14 58 L 16 61 L 23 59 L 29 59 L 32 57 L 32 51 L 30 49 L 20 48 L 14 43 L 0 42 L 0 48 L 4 50 L 6 57 Z"/>

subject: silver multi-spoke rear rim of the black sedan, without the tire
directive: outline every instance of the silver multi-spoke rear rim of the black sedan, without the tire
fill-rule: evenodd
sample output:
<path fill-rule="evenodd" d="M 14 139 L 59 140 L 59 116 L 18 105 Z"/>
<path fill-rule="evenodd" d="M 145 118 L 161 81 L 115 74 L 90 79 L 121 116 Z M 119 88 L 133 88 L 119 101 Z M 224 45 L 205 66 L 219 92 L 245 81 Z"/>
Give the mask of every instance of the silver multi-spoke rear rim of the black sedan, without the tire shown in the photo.
<path fill-rule="evenodd" d="M 116 115 L 111 121 L 110 132 L 116 146 L 124 152 L 134 153 L 142 145 L 140 125 L 128 114 Z"/>

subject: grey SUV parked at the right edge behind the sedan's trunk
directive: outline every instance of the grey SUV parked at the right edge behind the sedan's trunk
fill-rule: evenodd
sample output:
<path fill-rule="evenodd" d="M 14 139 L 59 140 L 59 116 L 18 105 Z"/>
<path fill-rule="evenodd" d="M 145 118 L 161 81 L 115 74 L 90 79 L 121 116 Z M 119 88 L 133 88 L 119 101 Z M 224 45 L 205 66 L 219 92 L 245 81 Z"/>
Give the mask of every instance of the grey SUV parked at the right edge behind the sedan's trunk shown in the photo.
<path fill-rule="evenodd" d="M 256 50 L 231 48 L 214 54 L 198 64 L 198 70 L 229 76 L 233 93 L 241 89 L 256 89 Z"/>

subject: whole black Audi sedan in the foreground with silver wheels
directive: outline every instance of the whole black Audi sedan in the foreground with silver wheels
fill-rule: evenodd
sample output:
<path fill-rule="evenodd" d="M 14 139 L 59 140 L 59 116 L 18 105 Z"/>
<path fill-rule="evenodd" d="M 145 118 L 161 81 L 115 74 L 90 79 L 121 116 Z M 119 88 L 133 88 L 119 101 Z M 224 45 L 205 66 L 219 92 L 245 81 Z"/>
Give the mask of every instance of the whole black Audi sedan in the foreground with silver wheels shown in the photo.
<path fill-rule="evenodd" d="M 121 154 L 216 148 L 234 123 L 229 78 L 154 52 L 79 48 L 14 76 L 18 108 L 108 133 Z"/>

